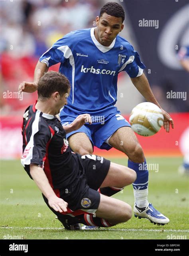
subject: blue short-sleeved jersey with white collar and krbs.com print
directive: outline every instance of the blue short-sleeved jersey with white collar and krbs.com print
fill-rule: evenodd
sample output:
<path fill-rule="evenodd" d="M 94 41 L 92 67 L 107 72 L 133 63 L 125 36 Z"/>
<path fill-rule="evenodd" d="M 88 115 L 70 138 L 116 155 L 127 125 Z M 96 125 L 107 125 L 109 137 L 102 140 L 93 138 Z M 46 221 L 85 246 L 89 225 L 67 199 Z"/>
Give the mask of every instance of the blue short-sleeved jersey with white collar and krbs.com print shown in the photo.
<path fill-rule="evenodd" d="M 145 68 L 138 52 L 124 38 L 117 36 L 110 46 L 103 46 L 94 31 L 88 28 L 70 32 L 39 59 L 48 67 L 61 63 L 59 72 L 71 83 L 68 105 L 63 109 L 70 116 L 117 112 L 118 74 L 126 71 L 132 78 L 139 77 Z"/>

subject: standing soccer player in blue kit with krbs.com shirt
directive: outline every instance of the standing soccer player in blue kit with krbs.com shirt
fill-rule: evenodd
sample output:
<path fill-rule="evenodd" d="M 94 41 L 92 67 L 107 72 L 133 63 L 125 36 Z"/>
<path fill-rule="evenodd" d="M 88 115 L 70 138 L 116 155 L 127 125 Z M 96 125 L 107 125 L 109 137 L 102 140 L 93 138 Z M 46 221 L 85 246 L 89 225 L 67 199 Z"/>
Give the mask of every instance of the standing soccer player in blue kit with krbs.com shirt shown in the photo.
<path fill-rule="evenodd" d="M 124 38 L 118 36 L 124 28 L 125 14 L 116 2 L 106 3 L 96 17 L 96 28 L 76 30 L 55 42 L 40 58 L 35 68 L 34 82 L 23 82 L 20 92 L 34 92 L 37 83 L 49 67 L 61 63 L 59 72 L 71 83 L 68 103 L 60 113 L 63 126 L 71 125 L 81 114 L 91 115 L 93 124 L 86 123 L 67 134 L 70 147 L 81 155 L 93 153 L 93 147 L 109 150 L 112 147 L 128 156 L 128 167 L 137 173 L 133 183 L 134 215 L 154 224 L 167 224 L 169 219 L 148 202 L 148 170 L 140 170 L 146 159 L 130 124 L 114 106 L 117 101 L 118 74 L 126 71 L 132 83 L 149 102 L 159 105 L 146 76 L 145 65 L 138 52 Z M 161 108 L 161 107 L 160 107 Z M 173 120 L 163 109 L 163 127 L 173 128 Z M 103 187 L 98 191 L 112 196 L 122 188 Z M 87 227 L 86 227 L 87 228 Z"/>

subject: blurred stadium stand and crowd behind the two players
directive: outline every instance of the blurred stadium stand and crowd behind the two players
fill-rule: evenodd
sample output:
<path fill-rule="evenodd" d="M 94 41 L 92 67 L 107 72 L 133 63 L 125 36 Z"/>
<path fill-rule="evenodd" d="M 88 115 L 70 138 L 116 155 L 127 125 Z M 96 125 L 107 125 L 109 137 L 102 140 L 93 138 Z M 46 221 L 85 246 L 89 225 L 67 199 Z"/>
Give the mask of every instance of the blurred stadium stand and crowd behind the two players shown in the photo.
<path fill-rule="evenodd" d="M 23 100 L 3 97 L 4 92 L 18 91 L 18 85 L 22 81 L 33 81 L 33 72 L 39 56 L 51 47 L 53 42 L 68 32 L 80 28 L 95 26 L 95 17 L 98 16 L 101 6 L 107 0 L 14 0 L 0 1 L 1 38 L 0 38 L 0 111 L 1 111 L 1 153 L 0 158 L 14 158 L 21 155 L 20 123 L 22 114 L 28 105 L 37 99 L 37 93 L 24 93 Z M 175 147 L 175 141 L 179 140 L 181 133 L 188 125 L 187 112 L 189 103 L 182 99 L 167 99 L 167 91 L 187 91 L 186 71 L 181 69 L 177 61 L 177 68 L 166 67 L 161 60 L 161 51 L 157 44 L 164 25 L 171 18 L 177 18 L 182 8 L 188 8 L 187 2 L 174 3 L 172 0 L 151 1 L 128 0 L 120 2 L 126 11 L 125 28 L 121 35 L 126 38 L 140 53 L 141 59 L 148 69 L 152 69 L 148 79 L 152 85 L 155 96 L 160 105 L 167 112 L 175 112 L 172 117 L 176 119 L 175 130 L 171 131 L 171 137 L 163 129 L 156 137 L 142 138 L 140 143 L 146 152 L 167 152 L 179 154 L 179 147 Z M 153 2 L 153 3 L 152 3 Z M 155 4 L 156 2 L 156 4 Z M 164 9 L 162 5 L 164 4 Z M 133 6 L 138 6 L 133 13 Z M 167 8 L 167 9 L 166 9 Z M 163 10 L 169 10 L 168 13 Z M 158 16 L 156 15 L 158 13 Z M 151 14 L 151 15 L 150 15 Z M 181 13 L 184 19 L 183 13 Z M 141 28 L 138 20 L 159 19 L 159 28 Z M 179 19 L 180 16 L 178 16 Z M 175 24 L 179 24 L 176 22 Z M 179 48 L 187 38 L 187 28 L 184 26 L 177 40 Z M 184 28 L 185 27 L 185 28 Z M 179 29 L 171 27 L 171 32 Z M 189 37 L 188 37 L 189 38 Z M 156 42 L 157 41 L 157 42 Z M 153 48 L 154 47 L 154 48 Z M 174 54 L 174 53 L 173 53 Z M 175 50 L 175 56 L 177 51 Z M 169 57 L 168 57 L 169 58 Z M 175 58 L 176 59 L 176 58 Z M 177 59 L 176 59 L 177 60 Z M 154 65 L 154 66 L 153 66 Z M 169 75 L 161 70 L 166 70 Z M 51 68 L 58 71 L 59 65 Z M 156 71 L 159 71 L 158 75 Z M 160 79 L 163 78 L 163 79 Z M 178 82 L 179 79 L 179 82 Z M 176 82 L 175 82 L 176 81 Z M 132 85 L 128 75 L 120 73 L 118 80 L 118 109 L 123 115 L 130 113 L 132 108 L 144 98 Z M 182 126 L 179 126 L 182 123 Z M 159 136 L 159 137 L 158 137 Z M 159 139 L 158 139 L 159 138 Z M 172 138 L 172 139 L 171 139 Z M 167 140 L 167 146 L 162 147 Z M 9 145 L 9 147 L 7 147 Z M 149 147 L 150 145 L 150 147 Z M 169 146 L 168 146 L 169 145 Z M 109 151 L 108 154 L 111 154 Z M 102 155 L 102 151 L 99 151 Z M 114 153 L 113 153 L 114 154 Z"/>

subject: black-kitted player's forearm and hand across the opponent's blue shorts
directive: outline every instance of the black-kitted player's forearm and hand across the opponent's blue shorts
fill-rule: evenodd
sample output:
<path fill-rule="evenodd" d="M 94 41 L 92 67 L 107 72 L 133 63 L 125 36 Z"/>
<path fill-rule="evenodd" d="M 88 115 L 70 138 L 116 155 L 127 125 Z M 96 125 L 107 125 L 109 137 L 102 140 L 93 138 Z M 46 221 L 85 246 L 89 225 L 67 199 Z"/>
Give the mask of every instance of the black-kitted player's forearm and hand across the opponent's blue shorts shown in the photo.
<path fill-rule="evenodd" d="M 76 117 L 76 119 L 70 124 L 63 126 L 66 133 L 71 133 L 71 131 L 77 131 L 79 128 L 81 128 L 85 123 L 92 124 L 92 118 L 89 114 L 83 114 Z"/>

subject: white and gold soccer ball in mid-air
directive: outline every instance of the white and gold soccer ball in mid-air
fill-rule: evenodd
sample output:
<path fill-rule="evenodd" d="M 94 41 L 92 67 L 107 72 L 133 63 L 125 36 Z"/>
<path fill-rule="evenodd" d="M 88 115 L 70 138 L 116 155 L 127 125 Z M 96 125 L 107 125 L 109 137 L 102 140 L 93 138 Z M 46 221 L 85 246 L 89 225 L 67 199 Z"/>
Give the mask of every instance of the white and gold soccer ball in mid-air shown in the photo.
<path fill-rule="evenodd" d="M 156 134 L 163 125 L 163 114 L 161 109 L 150 102 L 138 104 L 132 110 L 129 118 L 133 131 L 142 136 Z"/>

